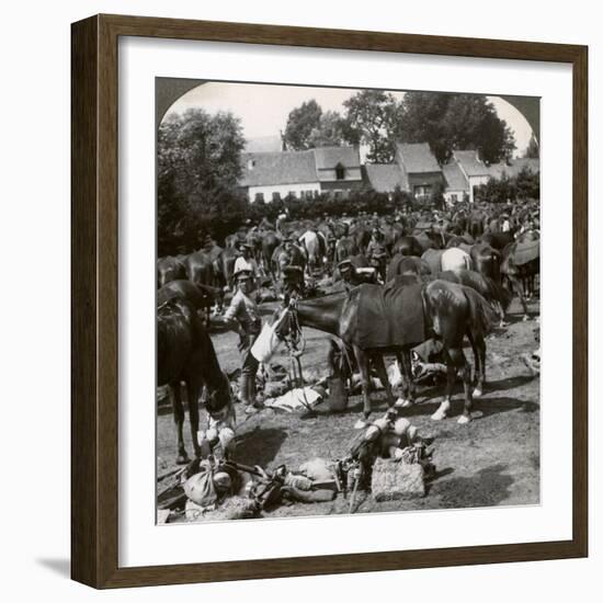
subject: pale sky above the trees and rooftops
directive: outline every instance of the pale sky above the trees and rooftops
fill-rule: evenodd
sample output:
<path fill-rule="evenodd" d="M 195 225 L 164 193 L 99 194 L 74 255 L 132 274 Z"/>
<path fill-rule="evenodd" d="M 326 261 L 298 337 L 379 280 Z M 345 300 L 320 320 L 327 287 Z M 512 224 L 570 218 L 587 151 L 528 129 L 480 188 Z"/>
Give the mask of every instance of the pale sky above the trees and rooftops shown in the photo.
<path fill-rule="evenodd" d="M 274 90 L 277 89 L 277 93 Z M 285 129 L 292 109 L 315 99 L 322 111 L 343 113 L 343 101 L 359 92 L 350 88 L 312 88 L 263 83 L 208 82 L 183 94 L 168 110 L 182 113 L 190 107 L 202 107 L 208 113 L 231 111 L 241 120 L 243 135 L 249 139 L 278 136 Z M 390 92 L 401 100 L 403 92 Z M 488 96 L 501 120 L 515 137 L 515 156 L 521 156 L 530 143 L 532 128 L 525 117 L 499 96 Z"/>

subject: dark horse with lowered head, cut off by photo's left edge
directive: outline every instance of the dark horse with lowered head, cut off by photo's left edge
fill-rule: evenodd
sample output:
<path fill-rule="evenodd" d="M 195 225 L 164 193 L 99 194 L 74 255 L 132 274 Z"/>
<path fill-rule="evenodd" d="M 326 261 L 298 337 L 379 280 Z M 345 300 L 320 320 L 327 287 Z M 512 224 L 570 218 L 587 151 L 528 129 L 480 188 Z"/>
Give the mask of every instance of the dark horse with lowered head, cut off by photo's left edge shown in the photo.
<path fill-rule="evenodd" d="M 182 297 L 172 296 L 157 308 L 157 385 L 170 386 L 177 426 L 178 464 L 189 462 L 182 437 L 182 382 L 186 386 L 193 447 L 195 456 L 200 456 L 197 431 L 201 388 L 203 385 L 207 388 L 206 408 L 213 413 L 231 405 L 230 384 L 220 369 L 212 340 L 194 307 Z"/>

